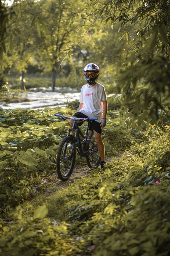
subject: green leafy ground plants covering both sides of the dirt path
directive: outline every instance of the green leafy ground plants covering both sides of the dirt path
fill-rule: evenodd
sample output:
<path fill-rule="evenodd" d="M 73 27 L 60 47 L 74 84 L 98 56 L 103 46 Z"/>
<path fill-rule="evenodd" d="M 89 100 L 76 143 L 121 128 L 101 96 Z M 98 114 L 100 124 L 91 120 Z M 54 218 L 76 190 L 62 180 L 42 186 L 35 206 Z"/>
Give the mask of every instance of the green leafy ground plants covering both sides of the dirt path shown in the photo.
<path fill-rule="evenodd" d="M 55 173 L 68 122 L 54 113 L 74 110 L 0 109 L 0 255 L 169 255 L 167 116 L 139 128 L 127 111 L 109 110 L 105 169 L 28 203 Z"/>

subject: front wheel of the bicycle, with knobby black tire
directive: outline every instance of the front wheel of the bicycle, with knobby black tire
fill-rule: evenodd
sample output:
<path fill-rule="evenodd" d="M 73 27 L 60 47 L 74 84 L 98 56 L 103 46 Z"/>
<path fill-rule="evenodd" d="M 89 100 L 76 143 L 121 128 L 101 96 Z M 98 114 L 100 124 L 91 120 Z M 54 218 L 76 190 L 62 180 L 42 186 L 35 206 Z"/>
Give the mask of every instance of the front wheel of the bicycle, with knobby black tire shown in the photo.
<path fill-rule="evenodd" d="M 71 176 L 76 160 L 76 147 L 71 136 L 65 137 L 57 152 L 56 168 L 60 180 L 68 180 Z"/>

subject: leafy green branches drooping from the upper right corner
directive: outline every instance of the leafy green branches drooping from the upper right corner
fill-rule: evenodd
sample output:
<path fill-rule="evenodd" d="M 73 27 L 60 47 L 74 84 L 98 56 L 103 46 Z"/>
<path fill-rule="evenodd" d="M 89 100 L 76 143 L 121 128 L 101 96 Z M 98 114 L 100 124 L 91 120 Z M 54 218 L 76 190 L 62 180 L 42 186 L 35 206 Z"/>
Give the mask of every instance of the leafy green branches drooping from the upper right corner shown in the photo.
<path fill-rule="evenodd" d="M 94 21 L 101 19 L 111 25 L 120 23 L 120 28 L 136 27 L 127 69 L 119 73 L 117 86 L 125 93 L 126 107 L 130 103 L 136 106 L 135 110 L 131 108 L 135 116 L 142 109 L 155 115 L 161 108 L 161 93 L 170 95 L 170 3 L 166 0 L 91 0 L 85 9 L 89 6 L 93 6 Z M 126 32 L 120 39 L 125 35 L 128 43 Z M 142 88 L 139 88 L 139 81 Z"/>

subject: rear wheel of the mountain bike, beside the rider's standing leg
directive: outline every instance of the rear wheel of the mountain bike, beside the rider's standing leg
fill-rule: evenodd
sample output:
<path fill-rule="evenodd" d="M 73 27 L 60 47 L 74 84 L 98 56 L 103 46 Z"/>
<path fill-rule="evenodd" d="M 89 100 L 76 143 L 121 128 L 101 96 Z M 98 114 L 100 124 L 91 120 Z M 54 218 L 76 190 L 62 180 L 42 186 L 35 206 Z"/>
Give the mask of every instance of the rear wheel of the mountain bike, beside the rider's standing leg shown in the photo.
<path fill-rule="evenodd" d="M 93 137 L 94 137 L 94 133 L 91 131 L 91 133 L 88 136 L 89 141 L 87 142 L 87 145 L 86 145 L 86 152 L 88 152 L 88 155 L 86 157 L 86 162 L 87 162 L 89 168 L 96 169 L 101 162 L 101 158 L 99 155 L 97 143 L 95 142 L 95 139 Z M 91 142 L 93 142 L 95 145 L 92 144 Z M 96 149 L 97 149 L 97 151 L 96 151 Z M 95 152 L 93 154 L 94 150 L 95 150 Z"/>

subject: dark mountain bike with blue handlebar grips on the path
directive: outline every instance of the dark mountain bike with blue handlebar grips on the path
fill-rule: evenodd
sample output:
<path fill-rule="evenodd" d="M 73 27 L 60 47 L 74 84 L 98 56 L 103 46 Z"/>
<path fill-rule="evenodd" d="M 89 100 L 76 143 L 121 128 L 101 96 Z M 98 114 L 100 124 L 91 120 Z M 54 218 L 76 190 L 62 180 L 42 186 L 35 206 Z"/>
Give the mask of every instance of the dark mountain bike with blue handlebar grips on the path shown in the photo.
<path fill-rule="evenodd" d="M 97 118 L 77 118 L 55 114 L 55 116 L 61 117 L 62 119 L 74 120 L 72 128 L 68 128 L 67 136 L 64 137 L 59 144 L 56 160 L 57 175 L 60 180 L 68 180 L 71 176 L 74 164 L 76 160 L 76 151 L 79 157 L 86 157 L 86 162 L 90 169 L 95 169 L 99 166 L 101 158 L 99 155 L 97 144 L 94 140 L 94 133 L 89 131 L 89 122 L 97 120 Z M 88 122 L 88 127 L 85 135 L 82 134 L 77 122 Z M 75 135 L 70 134 L 71 131 L 75 131 Z M 82 140 L 81 140 L 82 137 Z"/>

